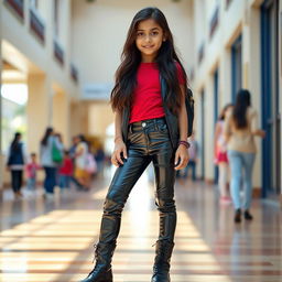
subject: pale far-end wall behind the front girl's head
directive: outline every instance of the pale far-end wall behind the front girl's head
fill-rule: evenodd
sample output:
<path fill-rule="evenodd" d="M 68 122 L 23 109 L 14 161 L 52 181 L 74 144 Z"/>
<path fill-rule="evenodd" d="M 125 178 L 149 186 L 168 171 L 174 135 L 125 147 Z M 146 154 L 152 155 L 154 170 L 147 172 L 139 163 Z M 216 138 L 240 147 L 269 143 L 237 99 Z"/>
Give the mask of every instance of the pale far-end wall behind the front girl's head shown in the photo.
<path fill-rule="evenodd" d="M 192 1 L 73 0 L 73 56 L 79 63 L 82 85 L 112 83 L 127 32 L 134 14 L 149 6 L 160 8 L 188 69 L 193 62 Z"/>

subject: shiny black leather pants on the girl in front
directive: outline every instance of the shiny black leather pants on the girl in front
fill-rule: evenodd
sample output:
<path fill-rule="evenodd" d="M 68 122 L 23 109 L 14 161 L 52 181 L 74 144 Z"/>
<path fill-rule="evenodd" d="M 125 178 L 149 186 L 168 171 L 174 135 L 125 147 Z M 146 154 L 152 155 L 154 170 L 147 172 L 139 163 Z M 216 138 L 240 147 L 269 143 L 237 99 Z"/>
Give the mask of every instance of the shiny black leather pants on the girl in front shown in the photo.
<path fill-rule="evenodd" d="M 155 172 L 155 204 L 160 212 L 159 240 L 173 242 L 176 226 L 174 203 L 175 150 L 164 118 L 134 122 L 129 126 L 128 160 L 116 170 L 104 204 L 99 241 L 115 242 L 121 213 L 132 187 L 152 161 Z"/>

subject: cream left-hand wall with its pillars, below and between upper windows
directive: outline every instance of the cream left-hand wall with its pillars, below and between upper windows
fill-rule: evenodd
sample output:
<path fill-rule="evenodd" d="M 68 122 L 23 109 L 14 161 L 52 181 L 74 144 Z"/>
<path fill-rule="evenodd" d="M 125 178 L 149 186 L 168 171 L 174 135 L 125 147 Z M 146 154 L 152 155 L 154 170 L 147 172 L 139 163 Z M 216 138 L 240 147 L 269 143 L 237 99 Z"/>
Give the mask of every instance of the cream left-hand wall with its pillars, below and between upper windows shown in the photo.
<path fill-rule="evenodd" d="M 42 44 L 30 30 L 30 1 L 24 1 L 24 20 L 20 21 L 12 9 L 1 1 L 0 9 L 0 46 L 2 57 L 13 65 L 22 76 L 9 78 L 9 83 L 25 83 L 29 85 L 28 109 L 28 148 L 36 151 L 40 139 L 46 126 L 57 126 L 64 133 L 66 144 L 70 135 L 72 119 L 69 100 L 78 99 L 78 85 L 70 77 L 70 0 L 59 0 L 59 43 L 64 47 L 64 65 L 54 57 L 53 26 L 54 1 L 39 1 L 39 14 L 45 23 L 45 44 Z M 17 80 L 18 79 L 18 80 Z M 65 97 L 61 105 L 53 107 L 51 99 L 56 89 Z M 63 109 L 63 110 L 62 110 Z M 54 118 L 52 117 L 54 116 Z M 72 117 L 78 119 L 79 117 Z M 80 124 L 79 124 L 80 126 Z M 56 128 L 55 128 L 56 129 Z M 0 139 L 1 140 L 1 139 Z M 0 150 L 1 152 L 1 150 Z M 2 161 L 0 160 L 0 163 Z M 0 167 L 3 172 L 3 167 Z M 9 178 L 4 174 L 4 182 Z M 0 175 L 1 176 L 1 175 Z M 0 186 L 2 176 L 0 178 Z"/>

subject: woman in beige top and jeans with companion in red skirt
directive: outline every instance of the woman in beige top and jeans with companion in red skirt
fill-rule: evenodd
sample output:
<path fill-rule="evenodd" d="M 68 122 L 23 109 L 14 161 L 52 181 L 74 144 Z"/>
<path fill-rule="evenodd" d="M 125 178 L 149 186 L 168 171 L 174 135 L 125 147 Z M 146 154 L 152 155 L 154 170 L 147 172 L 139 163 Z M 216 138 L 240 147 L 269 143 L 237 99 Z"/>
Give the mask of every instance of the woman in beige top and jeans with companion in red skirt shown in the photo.
<path fill-rule="evenodd" d="M 251 107 L 249 90 L 241 89 L 235 105 L 228 104 L 223 109 L 215 130 L 215 162 L 219 167 L 218 186 L 220 200 L 232 202 L 235 223 L 253 217 L 250 214 L 252 198 L 252 171 L 256 159 L 254 137 L 264 138 L 265 132 L 258 128 L 258 113 Z M 227 193 L 228 167 L 230 167 L 230 194 Z M 243 202 L 240 192 L 243 188 Z"/>

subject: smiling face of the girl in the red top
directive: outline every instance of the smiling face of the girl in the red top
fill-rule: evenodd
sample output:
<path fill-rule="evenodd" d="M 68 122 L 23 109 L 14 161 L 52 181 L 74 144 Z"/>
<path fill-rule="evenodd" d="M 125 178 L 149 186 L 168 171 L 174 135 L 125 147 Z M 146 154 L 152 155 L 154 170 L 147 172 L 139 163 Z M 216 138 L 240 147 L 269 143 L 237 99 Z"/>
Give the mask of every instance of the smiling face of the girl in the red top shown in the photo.
<path fill-rule="evenodd" d="M 135 44 L 141 52 L 142 62 L 153 62 L 163 41 L 165 41 L 163 30 L 153 19 L 138 24 Z"/>

